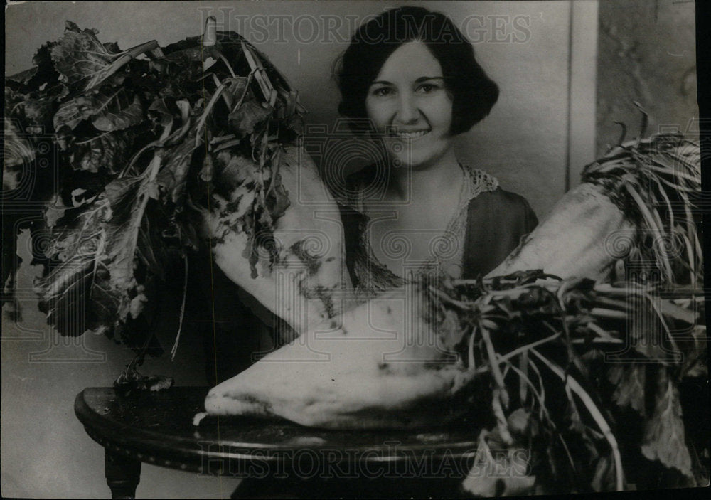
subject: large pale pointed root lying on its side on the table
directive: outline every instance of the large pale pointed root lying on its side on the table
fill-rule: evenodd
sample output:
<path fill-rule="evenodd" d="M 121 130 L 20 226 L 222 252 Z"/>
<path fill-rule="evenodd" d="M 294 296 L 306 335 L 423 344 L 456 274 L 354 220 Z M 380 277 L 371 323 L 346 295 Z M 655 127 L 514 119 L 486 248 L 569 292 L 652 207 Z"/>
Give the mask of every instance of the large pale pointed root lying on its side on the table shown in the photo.
<path fill-rule="evenodd" d="M 442 368 L 446 353 L 437 345 L 403 329 L 410 324 L 404 320 L 404 302 L 395 294 L 373 299 L 345 312 L 342 324 L 326 321 L 321 329 L 305 332 L 210 390 L 206 410 L 215 415 L 278 415 L 330 428 L 441 422 L 461 373 L 454 366 Z M 429 404 L 438 411 L 429 411 Z"/>

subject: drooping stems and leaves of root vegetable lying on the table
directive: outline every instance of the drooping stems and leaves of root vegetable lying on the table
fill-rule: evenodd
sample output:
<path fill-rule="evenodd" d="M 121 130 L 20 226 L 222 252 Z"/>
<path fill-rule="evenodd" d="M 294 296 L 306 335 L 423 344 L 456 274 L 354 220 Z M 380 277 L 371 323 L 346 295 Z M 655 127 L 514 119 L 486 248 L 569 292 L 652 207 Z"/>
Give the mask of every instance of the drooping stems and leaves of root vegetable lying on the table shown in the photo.
<path fill-rule="evenodd" d="M 615 489 L 625 478 L 620 454 L 659 462 L 697 484 L 702 466 L 690 452 L 679 387 L 683 376 L 706 373 L 705 326 L 696 324 L 702 318 L 700 297 L 670 302 L 635 284 L 598 286 L 574 278 L 537 284 L 522 273 L 446 279 L 432 292 L 439 299 L 442 344 L 455 341 L 452 350 L 461 365 L 488 381 L 486 395 L 479 391 L 477 398 L 492 402 L 498 422 L 480 440 L 464 482 L 470 493 L 530 493 L 534 475 L 570 481 L 579 491 Z M 478 328 L 468 331 L 470 324 Z M 616 358 L 621 353 L 624 361 Z M 511 396 L 508 408 L 499 402 L 502 386 Z M 482 472 L 510 469 L 506 450 L 512 448 L 539 457 L 533 472 Z"/>

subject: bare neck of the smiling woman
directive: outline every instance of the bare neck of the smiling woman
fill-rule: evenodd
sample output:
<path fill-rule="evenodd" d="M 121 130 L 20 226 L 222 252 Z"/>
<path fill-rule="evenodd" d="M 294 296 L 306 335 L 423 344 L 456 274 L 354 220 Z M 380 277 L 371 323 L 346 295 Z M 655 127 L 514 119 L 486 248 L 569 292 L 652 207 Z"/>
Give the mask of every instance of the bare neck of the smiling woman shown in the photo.
<path fill-rule="evenodd" d="M 450 148 L 437 162 L 418 168 L 391 168 L 387 195 L 393 201 L 410 199 L 429 204 L 442 195 L 450 193 L 456 186 L 461 187 L 463 172 Z"/>

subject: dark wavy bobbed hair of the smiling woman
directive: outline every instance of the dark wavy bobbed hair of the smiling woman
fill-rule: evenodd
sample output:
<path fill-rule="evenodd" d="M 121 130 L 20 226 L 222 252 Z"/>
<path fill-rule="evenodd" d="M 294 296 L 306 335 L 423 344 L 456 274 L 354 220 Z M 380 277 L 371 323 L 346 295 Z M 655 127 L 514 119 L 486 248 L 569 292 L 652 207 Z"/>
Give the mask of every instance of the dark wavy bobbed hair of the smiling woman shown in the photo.
<path fill-rule="evenodd" d="M 416 40 L 422 41 L 442 66 L 444 85 L 452 96 L 451 135 L 466 132 L 491 111 L 498 99 L 498 85 L 476 62 L 474 47 L 454 23 L 444 14 L 422 7 L 399 7 L 360 26 L 336 61 L 341 91 L 338 112 L 354 120 L 354 132 L 365 128 L 358 124 L 368 117 L 365 97 L 385 60 L 403 43 Z"/>

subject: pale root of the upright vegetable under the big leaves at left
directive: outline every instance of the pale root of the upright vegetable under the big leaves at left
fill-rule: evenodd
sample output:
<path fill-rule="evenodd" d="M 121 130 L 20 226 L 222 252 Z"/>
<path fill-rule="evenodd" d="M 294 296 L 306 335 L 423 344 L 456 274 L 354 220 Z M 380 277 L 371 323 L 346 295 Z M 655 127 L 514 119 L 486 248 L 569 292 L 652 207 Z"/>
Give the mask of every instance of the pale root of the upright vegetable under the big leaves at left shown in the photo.
<path fill-rule="evenodd" d="M 205 236 L 213 243 L 220 270 L 301 333 L 338 314 L 343 307 L 338 292 L 351 289 L 344 267 L 343 228 L 335 201 L 303 149 L 284 147 L 277 172 L 289 206 L 275 221 L 273 233 L 256 235 L 256 276 L 247 262 L 250 256 L 244 255 L 252 245 L 238 222 L 255 198 L 249 178 L 259 175 L 256 164 L 240 161 L 221 172 L 220 182 L 236 187 L 229 199 L 213 196 Z M 274 253 L 278 257 L 270 265 Z"/>

